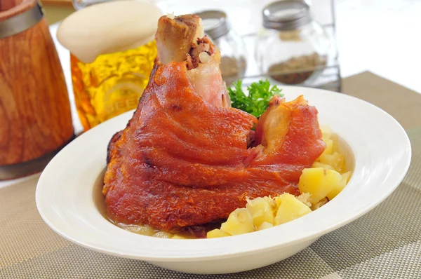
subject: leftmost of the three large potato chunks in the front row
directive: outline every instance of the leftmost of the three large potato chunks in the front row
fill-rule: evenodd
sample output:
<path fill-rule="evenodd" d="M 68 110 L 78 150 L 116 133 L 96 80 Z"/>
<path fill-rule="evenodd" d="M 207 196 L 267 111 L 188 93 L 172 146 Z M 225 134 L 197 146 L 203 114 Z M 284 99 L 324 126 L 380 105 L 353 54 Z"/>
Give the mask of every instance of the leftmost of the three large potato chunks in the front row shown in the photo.
<path fill-rule="evenodd" d="M 253 217 L 247 208 L 237 208 L 229 214 L 227 222 L 222 223 L 221 231 L 225 231 L 232 236 L 255 231 Z"/>

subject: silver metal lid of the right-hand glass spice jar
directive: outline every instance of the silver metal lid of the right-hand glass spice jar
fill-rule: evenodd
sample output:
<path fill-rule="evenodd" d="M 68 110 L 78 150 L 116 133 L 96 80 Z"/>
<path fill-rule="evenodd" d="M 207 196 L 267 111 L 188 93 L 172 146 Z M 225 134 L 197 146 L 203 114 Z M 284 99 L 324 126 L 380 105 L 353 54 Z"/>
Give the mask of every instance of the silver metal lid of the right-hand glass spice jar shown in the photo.
<path fill-rule="evenodd" d="M 310 7 L 303 0 L 276 1 L 263 8 L 263 26 L 268 29 L 298 29 L 312 20 Z"/>

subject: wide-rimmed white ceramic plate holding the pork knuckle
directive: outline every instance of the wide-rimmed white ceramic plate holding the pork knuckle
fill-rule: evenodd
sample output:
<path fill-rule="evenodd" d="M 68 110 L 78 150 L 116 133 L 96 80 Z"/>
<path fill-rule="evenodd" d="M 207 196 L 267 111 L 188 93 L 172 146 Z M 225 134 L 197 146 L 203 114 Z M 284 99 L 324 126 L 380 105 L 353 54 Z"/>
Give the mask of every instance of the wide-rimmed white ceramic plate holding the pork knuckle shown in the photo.
<path fill-rule="evenodd" d="M 41 217 L 83 247 L 187 273 L 246 271 L 290 257 L 387 198 L 406 174 L 411 150 L 401 125 L 368 102 L 311 88 L 283 87 L 283 93 L 287 100 L 305 95 L 319 110 L 321 125 L 329 125 L 354 155 L 349 184 L 319 210 L 272 229 L 227 238 L 152 238 L 114 226 L 100 206 L 102 173 L 109 139 L 126 127 L 130 111 L 84 133 L 53 158 L 36 187 Z"/>

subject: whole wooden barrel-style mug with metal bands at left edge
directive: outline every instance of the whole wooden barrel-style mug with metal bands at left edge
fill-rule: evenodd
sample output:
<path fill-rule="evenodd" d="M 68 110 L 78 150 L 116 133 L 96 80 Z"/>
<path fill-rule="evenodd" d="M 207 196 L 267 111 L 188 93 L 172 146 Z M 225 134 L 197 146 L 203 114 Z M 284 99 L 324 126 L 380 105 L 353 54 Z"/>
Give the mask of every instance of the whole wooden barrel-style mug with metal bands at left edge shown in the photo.
<path fill-rule="evenodd" d="M 0 180 L 41 171 L 74 137 L 65 77 L 36 0 L 0 0 Z"/>

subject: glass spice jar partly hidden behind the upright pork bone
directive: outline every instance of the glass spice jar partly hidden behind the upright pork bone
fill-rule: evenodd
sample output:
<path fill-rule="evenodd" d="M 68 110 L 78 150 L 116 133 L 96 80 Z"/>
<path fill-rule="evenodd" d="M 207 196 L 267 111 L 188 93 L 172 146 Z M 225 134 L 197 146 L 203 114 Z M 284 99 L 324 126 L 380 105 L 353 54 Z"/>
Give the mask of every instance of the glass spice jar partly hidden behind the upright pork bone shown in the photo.
<path fill-rule="evenodd" d="M 243 39 L 230 29 L 226 13 L 202 11 L 195 14 L 202 19 L 205 34 L 220 49 L 222 79 L 230 86 L 246 72 L 246 49 Z"/>

